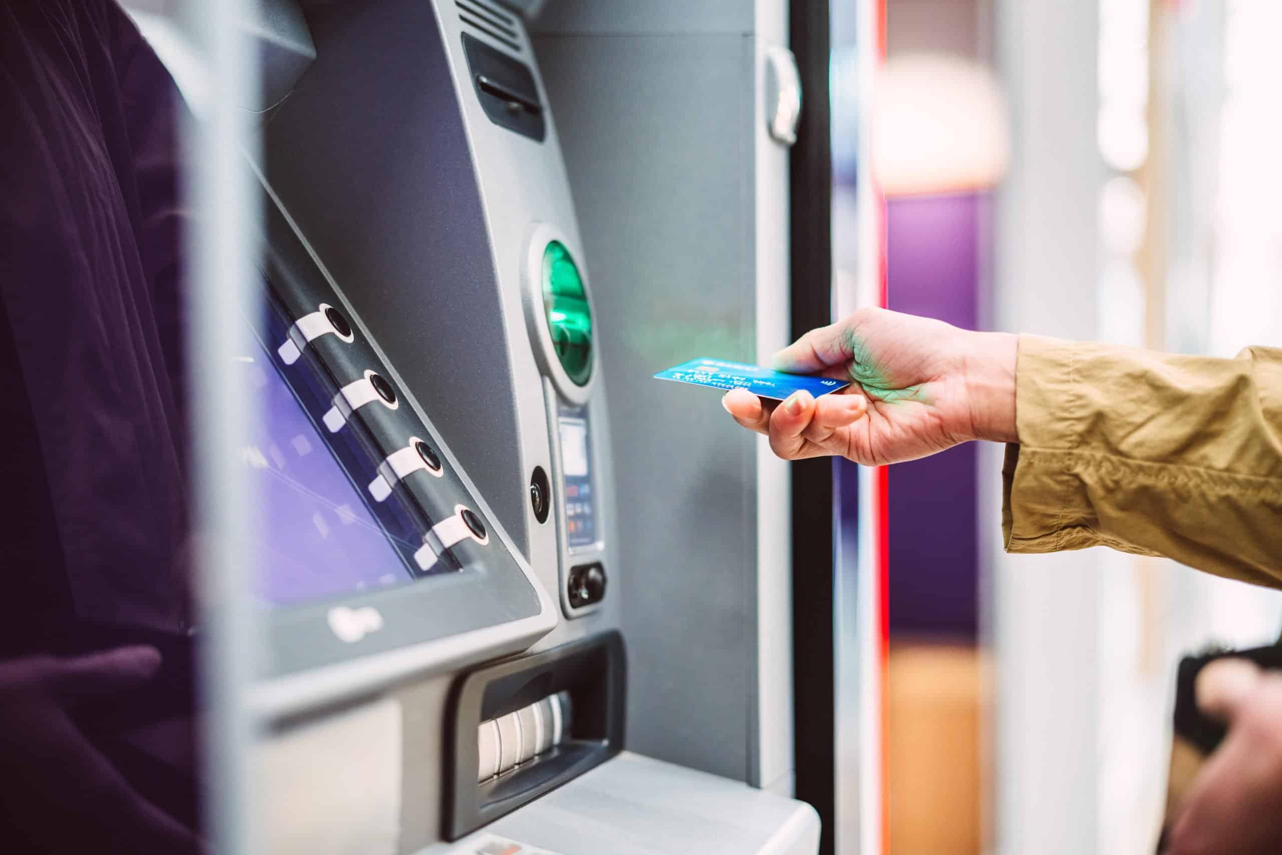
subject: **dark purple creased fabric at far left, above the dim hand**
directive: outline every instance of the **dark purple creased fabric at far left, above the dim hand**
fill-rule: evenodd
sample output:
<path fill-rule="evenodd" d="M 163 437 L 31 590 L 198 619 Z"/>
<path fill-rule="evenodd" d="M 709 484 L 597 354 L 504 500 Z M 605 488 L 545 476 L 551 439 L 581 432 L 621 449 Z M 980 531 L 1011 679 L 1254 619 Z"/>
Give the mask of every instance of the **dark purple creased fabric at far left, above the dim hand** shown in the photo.
<path fill-rule="evenodd" d="M 0 652 L 183 632 L 178 99 L 110 1 L 0 5 Z"/>

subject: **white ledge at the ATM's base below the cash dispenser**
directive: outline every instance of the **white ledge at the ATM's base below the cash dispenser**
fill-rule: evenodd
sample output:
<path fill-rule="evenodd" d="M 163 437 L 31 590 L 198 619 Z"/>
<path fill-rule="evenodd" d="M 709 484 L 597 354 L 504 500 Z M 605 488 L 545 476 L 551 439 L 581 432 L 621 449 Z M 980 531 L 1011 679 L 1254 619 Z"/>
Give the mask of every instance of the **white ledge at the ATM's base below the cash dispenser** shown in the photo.
<path fill-rule="evenodd" d="M 810 805 L 623 751 L 451 846 L 420 855 L 814 855 Z"/>

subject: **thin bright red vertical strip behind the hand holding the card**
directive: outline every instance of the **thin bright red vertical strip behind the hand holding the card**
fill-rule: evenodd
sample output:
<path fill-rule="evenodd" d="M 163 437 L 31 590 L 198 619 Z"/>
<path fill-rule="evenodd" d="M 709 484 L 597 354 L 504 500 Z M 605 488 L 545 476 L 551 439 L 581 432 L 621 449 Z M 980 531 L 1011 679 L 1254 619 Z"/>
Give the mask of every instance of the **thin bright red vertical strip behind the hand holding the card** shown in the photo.
<path fill-rule="evenodd" d="M 877 67 L 886 64 L 886 0 L 877 0 Z M 874 78 L 876 79 L 876 78 Z M 865 174 L 872 174 L 872 169 Z M 890 304 L 886 295 L 886 197 L 877 181 L 872 182 L 873 210 L 877 217 L 877 274 L 879 282 L 878 303 L 885 309 Z M 890 477 L 886 467 L 877 469 L 877 564 L 878 564 L 878 614 L 877 629 L 881 642 L 881 855 L 890 852 Z"/>

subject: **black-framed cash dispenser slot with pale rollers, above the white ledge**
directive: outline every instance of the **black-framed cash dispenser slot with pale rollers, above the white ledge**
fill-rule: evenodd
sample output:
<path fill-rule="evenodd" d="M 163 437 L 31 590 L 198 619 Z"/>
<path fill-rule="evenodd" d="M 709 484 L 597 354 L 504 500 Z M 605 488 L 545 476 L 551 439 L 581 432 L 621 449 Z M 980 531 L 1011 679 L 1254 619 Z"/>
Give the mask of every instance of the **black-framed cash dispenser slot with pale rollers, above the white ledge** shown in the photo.
<path fill-rule="evenodd" d="M 445 837 L 458 840 L 623 749 L 623 637 L 606 632 L 462 677 L 449 706 Z"/>

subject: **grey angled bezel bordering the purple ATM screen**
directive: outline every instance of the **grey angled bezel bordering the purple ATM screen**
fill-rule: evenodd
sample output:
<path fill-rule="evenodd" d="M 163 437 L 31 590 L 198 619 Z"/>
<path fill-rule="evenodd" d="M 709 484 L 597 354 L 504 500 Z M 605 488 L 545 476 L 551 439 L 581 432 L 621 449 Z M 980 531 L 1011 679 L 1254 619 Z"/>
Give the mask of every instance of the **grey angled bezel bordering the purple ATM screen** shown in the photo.
<path fill-rule="evenodd" d="M 335 338 L 333 336 L 322 336 L 309 345 L 309 350 L 320 351 L 319 358 L 335 374 L 336 383 L 350 382 L 360 376 L 362 369 L 372 368 L 394 378 L 397 395 L 408 404 L 396 410 L 377 408 L 369 417 L 364 414 L 368 408 L 363 408 L 350 418 L 362 420 L 376 442 L 385 446 L 385 454 L 404 447 L 412 436 L 433 442 L 447 472 L 456 478 L 456 486 L 463 488 L 462 495 L 482 515 L 492 535 L 486 546 L 465 541 L 453 547 L 451 551 L 462 564 L 462 569 L 455 572 L 428 576 L 382 591 L 265 609 L 269 655 L 263 658 L 260 681 L 279 682 L 282 678 L 306 676 L 395 651 L 418 652 L 417 656 L 400 658 L 403 667 L 412 669 L 414 663 L 440 659 L 442 655 L 465 656 L 467 647 L 506 652 L 522 650 L 555 626 L 555 604 L 541 588 L 519 549 L 478 495 L 419 403 L 399 382 L 395 368 L 382 358 L 363 319 L 344 299 L 323 264 L 309 251 L 269 188 L 263 209 L 265 236 L 262 259 L 272 291 L 271 299 L 283 305 L 295 319 L 315 310 L 322 303 L 341 306 L 355 331 L 355 340 L 350 344 L 332 342 L 323 340 Z M 415 490 L 417 486 L 400 482 L 395 488 Z M 446 497 L 445 501 L 453 499 Z M 373 608 L 378 611 L 382 626 L 359 640 L 344 641 L 329 626 L 331 611 L 340 606 L 353 610 Z M 469 641 L 454 651 L 438 649 L 433 654 L 424 649 L 429 642 L 449 642 L 460 637 Z M 347 681 L 344 691 L 350 693 L 370 682 L 370 674 L 386 670 L 367 669 L 365 678 Z M 297 686 L 297 681 L 290 682 Z M 294 697 L 285 706 L 301 704 L 303 696 L 309 693 L 312 692 L 285 692 Z M 281 692 L 276 695 L 282 696 Z M 281 702 L 269 705 L 279 706 Z"/>

